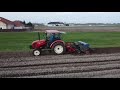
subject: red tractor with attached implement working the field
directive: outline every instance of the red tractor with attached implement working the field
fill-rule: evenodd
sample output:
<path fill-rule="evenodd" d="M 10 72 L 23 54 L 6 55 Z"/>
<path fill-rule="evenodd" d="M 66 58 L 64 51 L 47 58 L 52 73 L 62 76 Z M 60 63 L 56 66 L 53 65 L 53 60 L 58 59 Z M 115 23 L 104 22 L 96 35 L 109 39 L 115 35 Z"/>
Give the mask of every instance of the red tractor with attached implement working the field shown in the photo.
<path fill-rule="evenodd" d="M 40 33 L 38 33 L 39 40 L 33 41 L 32 45 L 30 45 L 30 49 L 34 49 L 34 56 L 39 56 L 43 50 L 50 50 L 57 55 L 64 54 L 65 52 L 89 54 L 91 51 L 89 44 L 85 42 L 64 42 L 61 40 L 61 34 L 65 34 L 65 32 L 46 30 L 45 34 L 46 39 L 40 40 Z"/>

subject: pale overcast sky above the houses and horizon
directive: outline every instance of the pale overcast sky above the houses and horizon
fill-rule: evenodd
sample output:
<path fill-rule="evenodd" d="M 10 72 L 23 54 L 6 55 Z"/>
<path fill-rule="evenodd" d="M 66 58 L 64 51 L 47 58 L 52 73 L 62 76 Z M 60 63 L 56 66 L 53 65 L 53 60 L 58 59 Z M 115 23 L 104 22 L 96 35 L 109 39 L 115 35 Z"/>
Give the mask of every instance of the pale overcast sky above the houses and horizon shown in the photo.
<path fill-rule="evenodd" d="M 0 12 L 0 17 L 32 23 L 120 23 L 120 12 Z"/>

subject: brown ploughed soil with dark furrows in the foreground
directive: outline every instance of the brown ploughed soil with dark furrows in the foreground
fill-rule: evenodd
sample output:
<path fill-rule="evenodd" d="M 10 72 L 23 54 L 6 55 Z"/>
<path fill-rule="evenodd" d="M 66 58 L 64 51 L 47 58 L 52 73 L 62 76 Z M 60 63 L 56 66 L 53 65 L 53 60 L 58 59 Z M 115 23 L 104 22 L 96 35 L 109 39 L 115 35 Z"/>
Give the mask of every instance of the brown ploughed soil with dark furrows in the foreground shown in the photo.
<path fill-rule="evenodd" d="M 31 52 L 1 52 L 0 78 L 120 78 L 119 51 L 100 48 L 91 55 L 38 57 Z"/>

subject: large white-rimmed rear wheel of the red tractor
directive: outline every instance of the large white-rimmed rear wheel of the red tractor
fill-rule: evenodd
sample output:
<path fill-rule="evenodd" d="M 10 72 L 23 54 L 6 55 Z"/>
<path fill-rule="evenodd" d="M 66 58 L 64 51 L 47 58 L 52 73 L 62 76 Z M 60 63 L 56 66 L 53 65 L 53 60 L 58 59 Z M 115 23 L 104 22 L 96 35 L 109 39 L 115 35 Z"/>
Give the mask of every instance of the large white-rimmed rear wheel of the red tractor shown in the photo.
<path fill-rule="evenodd" d="M 65 53 L 65 45 L 60 42 L 53 44 L 52 52 L 57 55 Z"/>

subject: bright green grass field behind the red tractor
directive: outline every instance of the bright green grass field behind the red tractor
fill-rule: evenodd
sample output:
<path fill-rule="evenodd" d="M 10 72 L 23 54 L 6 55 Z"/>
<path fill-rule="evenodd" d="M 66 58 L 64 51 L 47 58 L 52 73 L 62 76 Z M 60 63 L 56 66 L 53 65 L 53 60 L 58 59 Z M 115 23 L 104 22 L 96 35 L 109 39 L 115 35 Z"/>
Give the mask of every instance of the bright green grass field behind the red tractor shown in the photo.
<path fill-rule="evenodd" d="M 41 34 L 43 37 L 44 34 Z M 36 32 L 1 32 L 0 51 L 29 51 L 28 46 L 36 39 Z M 84 41 L 91 47 L 120 46 L 120 32 L 69 32 L 62 39 L 68 42 Z"/>

